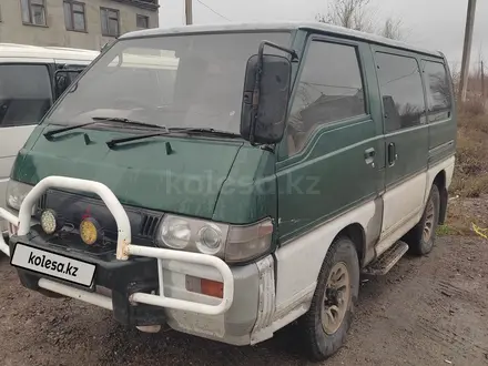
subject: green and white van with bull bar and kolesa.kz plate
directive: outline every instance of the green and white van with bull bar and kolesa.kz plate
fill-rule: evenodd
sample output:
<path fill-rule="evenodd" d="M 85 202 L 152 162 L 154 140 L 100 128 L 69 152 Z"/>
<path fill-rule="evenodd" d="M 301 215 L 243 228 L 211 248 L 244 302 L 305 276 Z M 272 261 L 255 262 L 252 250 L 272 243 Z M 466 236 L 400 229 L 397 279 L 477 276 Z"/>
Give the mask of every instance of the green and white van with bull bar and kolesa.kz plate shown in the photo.
<path fill-rule="evenodd" d="M 339 349 L 359 275 L 428 254 L 456 149 L 440 52 L 322 23 L 124 34 L 17 155 L 23 286 L 144 332 Z M 95 319 L 93 319 L 95 322 Z"/>

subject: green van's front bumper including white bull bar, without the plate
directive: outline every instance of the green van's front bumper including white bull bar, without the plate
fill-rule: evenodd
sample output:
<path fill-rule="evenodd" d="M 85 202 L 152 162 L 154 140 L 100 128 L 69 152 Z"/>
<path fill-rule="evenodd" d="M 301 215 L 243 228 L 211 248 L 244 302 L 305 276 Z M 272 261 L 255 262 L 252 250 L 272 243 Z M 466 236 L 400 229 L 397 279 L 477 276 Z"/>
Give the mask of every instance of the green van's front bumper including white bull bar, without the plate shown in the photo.
<path fill-rule="evenodd" d="M 89 289 L 18 267 L 26 287 L 112 309 L 115 319 L 122 324 L 159 325 L 167 322 L 177 331 L 207 338 L 232 344 L 250 343 L 260 303 L 262 273 L 258 264 L 231 270 L 222 260 L 211 255 L 134 245 L 122 205 L 106 186 L 98 182 L 61 176 L 49 176 L 39 182 L 24 199 L 19 217 L 0 210 L 0 217 L 18 227 L 9 245 L 0 238 L 0 250 L 10 255 L 17 245 L 28 244 L 68 255 L 62 248 L 49 247 L 49 243 L 41 235 L 35 235 L 31 227 L 32 206 L 49 187 L 96 193 L 118 223 L 116 254 L 114 261 L 105 262 L 83 253 L 69 253 L 72 258 L 96 266 Z M 263 261 L 270 262 L 270 258 Z M 185 282 L 189 275 L 222 282 L 222 298 L 187 291 Z M 109 289 L 109 295 L 106 292 L 102 294 L 104 289 Z"/>

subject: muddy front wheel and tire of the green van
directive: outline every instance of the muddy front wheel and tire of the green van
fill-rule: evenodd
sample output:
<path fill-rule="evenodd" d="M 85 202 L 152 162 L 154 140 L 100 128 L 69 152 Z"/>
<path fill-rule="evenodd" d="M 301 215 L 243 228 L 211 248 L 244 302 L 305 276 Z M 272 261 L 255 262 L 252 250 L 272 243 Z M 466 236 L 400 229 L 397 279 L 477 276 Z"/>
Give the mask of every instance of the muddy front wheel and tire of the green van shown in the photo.
<path fill-rule="evenodd" d="M 299 327 L 312 360 L 324 360 L 345 343 L 359 291 L 359 261 L 354 243 L 339 237 L 332 244 L 317 287 Z"/>

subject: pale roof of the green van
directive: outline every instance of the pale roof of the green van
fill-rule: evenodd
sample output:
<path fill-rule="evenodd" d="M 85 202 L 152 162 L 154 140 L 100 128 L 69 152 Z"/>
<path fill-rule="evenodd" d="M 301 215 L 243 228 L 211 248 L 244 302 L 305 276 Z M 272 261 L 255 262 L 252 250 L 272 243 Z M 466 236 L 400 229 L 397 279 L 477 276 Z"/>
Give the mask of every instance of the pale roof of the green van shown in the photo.
<path fill-rule="evenodd" d="M 192 33 L 221 33 L 221 32 L 238 32 L 238 31 L 293 31 L 293 30 L 315 30 L 331 34 L 343 35 L 347 38 L 366 40 L 377 44 L 399 48 L 404 50 L 426 53 L 435 57 L 444 57 L 439 51 L 425 50 L 413 44 L 400 41 L 390 40 L 377 34 L 359 32 L 356 30 L 326 24 L 322 22 L 247 22 L 247 23 L 225 23 L 225 24 L 205 24 L 205 26 L 183 26 L 174 28 L 153 28 L 140 31 L 133 31 L 123 34 L 120 39 L 167 35 L 167 34 L 192 34 Z"/>

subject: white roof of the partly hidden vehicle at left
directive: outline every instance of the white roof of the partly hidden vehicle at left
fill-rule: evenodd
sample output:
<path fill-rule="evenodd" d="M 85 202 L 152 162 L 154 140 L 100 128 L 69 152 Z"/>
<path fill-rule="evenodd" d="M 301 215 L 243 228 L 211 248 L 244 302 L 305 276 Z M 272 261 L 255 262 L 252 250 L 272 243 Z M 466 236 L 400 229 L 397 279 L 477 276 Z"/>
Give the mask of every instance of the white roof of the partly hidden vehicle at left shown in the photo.
<path fill-rule="evenodd" d="M 62 47 L 39 47 L 18 43 L 0 43 L 0 58 L 62 59 L 92 61 L 100 52 Z"/>

